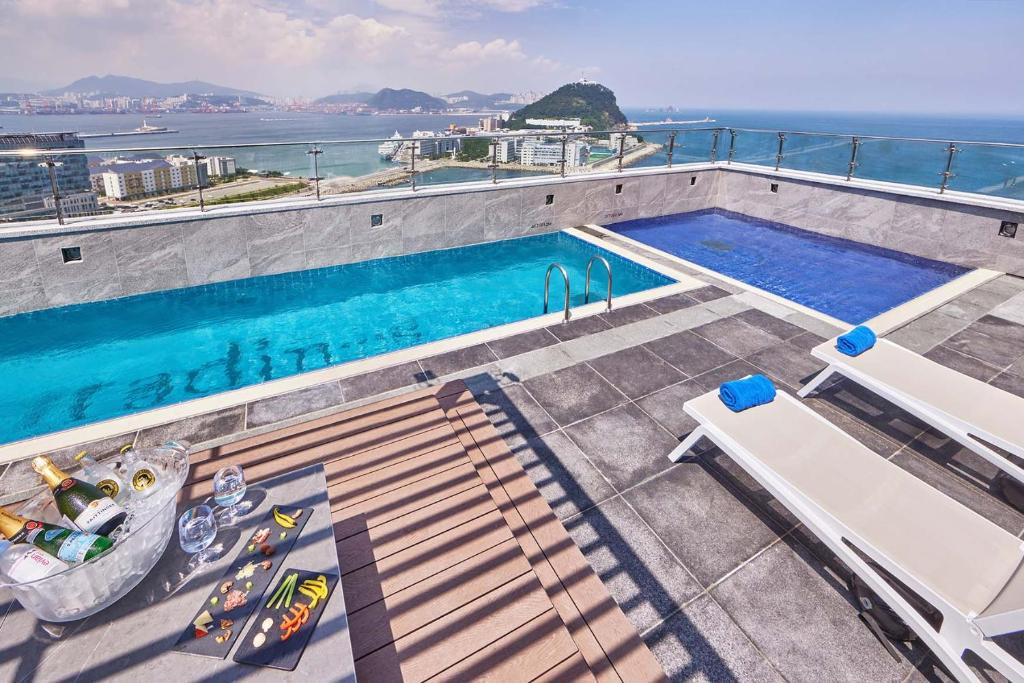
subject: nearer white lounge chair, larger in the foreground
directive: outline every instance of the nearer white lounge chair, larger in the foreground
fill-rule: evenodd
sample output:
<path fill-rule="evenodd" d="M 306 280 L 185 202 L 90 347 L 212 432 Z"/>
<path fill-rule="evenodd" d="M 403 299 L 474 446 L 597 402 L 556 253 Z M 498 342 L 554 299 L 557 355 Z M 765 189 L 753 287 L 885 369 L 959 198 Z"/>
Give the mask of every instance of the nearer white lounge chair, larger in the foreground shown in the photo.
<path fill-rule="evenodd" d="M 796 515 L 961 680 L 978 681 L 967 649 L 1012 681 L 1024 665 L 991 640 L 1024 630 L 1024 544 L 1001 527 L 880 458 L 779 392 L 733 413 L 711 392 L 683 409 L 699 426 L 669 459 L 708 437 Z M 936 629 L 869 558 L 942 614 Z"/>

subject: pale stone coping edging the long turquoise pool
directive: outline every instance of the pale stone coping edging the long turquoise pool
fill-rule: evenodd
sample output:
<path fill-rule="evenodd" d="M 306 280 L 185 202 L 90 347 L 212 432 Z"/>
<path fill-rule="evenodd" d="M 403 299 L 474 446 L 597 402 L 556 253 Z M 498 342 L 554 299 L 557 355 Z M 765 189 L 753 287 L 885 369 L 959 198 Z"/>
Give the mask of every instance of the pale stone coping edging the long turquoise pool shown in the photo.
<path fill-rule="evenodd" d="M 644 290 L 642 292 L 634 292 L 632 294 L 617 297 L 613 301 L 612 309 L 642 303 L 644 301 L 651 301 L 671 294 L 688 292 L 701 287 L 707 287 L 707 283 L 696 280 L 685 272 L 669 268 L 665 264 L 657 263 L 656 261 L 645 257 L 642 253 L 637 254 L 617 245 L 607 244 L 605 241 L 596 239 L 593 236 L 589 236 L 574 228 L 567 228 L 559 231 L 612 252 L 617 256 L 629 259 L 634 263 L 645 266 L 662 275 L 676 281 L 674 284 L 664 285 L 649 290 Z M 555 300 L 557 301 L 558 297 L 556 297 Z M 606 310 L 607 307 L 604 301 L 595 301 L 594 303 L 584 304 L 583 306 L 571 308 L 570 319 L 574 321 L 590 317 L 597 315 L 598 313 L 603 313 Z M 424 344 L 418 344 L 416 346 L 397 349 L 395 351 L 389 351 L 387 353 L 380 353 L 366 358 L 331 366 L 330 368 L 313 370 L 307 373 L 299 373 L 297 375 L 282 377 L 280 379 L 270 380 L 260 384 L 253 384 L 239 389 L 221 391 L 210 396 L 193 398 L 190 400 L 171 403 L 169 405 L 163 405 L 147 411 L 140 411 L 138 413 L 132 413 L 130 415 L 81 425 L 79 427 L 48 432 L 39 436 L 32 436 L 0 445 L 0 466 L 23 460 L 27 457 L 40 453 L 52 452 L 82 443 L 90 443 L 101 439 L 112 438 L 127 432 L 139 431 L 170 422 L 176 422 L 185 418 L 197 417 L 229 408 L 245 405 L 246 403 L 255 400 L 292 393 L 294 391 L 307 389 L 318 384 L 342 380 L 356 375 L 362 375 L 365 373 L 381 370 L 383 368 L 388 368 L 401 362 L 418 360 L 420 358 L 430 357 L 439 353 L 446 353 L 449 351 L 474 346 L 483 342 L 496 341 L 511 335 L 557 325 L 562 321 L 563 313 L 560 310 L 544 315 L 536 315 L 534 317 L 507 323 L 505 325 L 485 328 L 483 330 L 477 330 L 475 332 L 455 337 L 439 339 Z"/>

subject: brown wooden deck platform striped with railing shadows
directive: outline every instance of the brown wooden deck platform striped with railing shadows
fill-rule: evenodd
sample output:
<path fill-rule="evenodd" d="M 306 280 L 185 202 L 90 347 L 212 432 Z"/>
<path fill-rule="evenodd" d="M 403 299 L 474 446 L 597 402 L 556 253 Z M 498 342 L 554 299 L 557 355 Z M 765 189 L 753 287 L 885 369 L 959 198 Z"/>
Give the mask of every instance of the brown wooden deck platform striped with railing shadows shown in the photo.
<path fill-rule="evenodd" d="M 664 680 L 462 382 L 197 454 L 193 485 L 317 462 L 360 682 Z"/>

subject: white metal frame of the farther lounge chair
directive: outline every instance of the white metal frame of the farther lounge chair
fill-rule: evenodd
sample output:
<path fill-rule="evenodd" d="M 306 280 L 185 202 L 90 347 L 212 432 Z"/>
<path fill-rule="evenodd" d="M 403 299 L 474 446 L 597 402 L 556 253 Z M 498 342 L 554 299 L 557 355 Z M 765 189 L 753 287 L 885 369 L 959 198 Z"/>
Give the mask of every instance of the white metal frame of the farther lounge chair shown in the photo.
<path fill-rule="evenodd" d="M 826 344 L 831 343 L 834 342 L 826 342 Z M 897 346 L 893 342 L 886 339 L 878 340 L 877 344 L 882 346 L 887 344 Z M 865 353 L 870 353 L 870 351 L 871 349 L 868 349 Z M 833 355 L 825 355 L 823 352 L 819 351 L 819 348 L 811 349 L 811 354 L 820 360 L 824 360 L 828 364 L 828 366 L 797 392 L 797 395 L 801 398 L 809 396 L 826 380 L 835 375 L 842 375 L 843 377 L 861 385 L 865 389 L 882 396 L 889 402 L 895 403 L 919 420 L 935 427 L 961 445 L 970 449 L 990 464 L 999 468 L 1018 481 L 1024 483 L 1024 468 L 1017 466 L 1015 463 L 1011 462 L 988 446 L 988 444 L 991 443 L 996 447 L 1002 449 L 1007 453 L 1011 453 L 1018 458 L 1024 459 L 1024 444 L 1011 443 L 995 434 L 986 432 L 983 429 L 961 420 L 955 415 L 950 415 L 944 411 L 940 411 L 934 405 L 930 405 L 920 398 L 903 393 L 897 387 L 882 382 L 878 378 L 850 364 L 845 364 Z M 992 390 L 997 391 L 994 387 Z"/>

